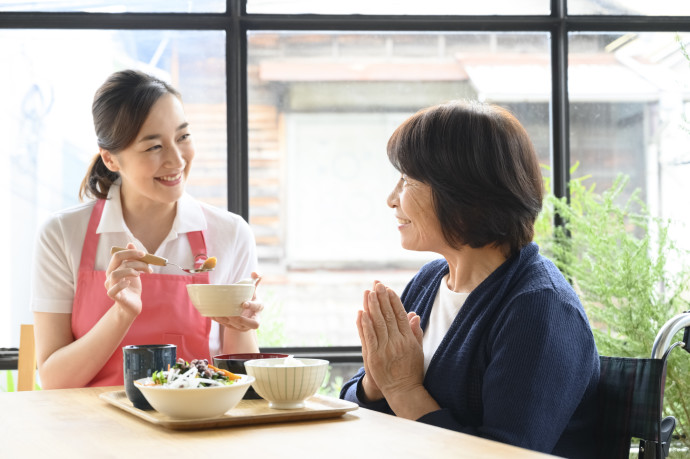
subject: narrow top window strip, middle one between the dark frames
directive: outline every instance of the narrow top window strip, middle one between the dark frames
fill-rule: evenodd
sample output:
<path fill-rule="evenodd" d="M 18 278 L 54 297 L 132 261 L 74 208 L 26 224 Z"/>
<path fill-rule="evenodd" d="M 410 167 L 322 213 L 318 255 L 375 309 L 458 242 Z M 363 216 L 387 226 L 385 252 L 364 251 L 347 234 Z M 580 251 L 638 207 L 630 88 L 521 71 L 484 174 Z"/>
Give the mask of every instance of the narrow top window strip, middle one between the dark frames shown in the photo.
<path fill-rule="evenodd" d="M 247 0 L 247 13 L 255 14 L 532 15 L 550 12 L 549 0 Z"/>

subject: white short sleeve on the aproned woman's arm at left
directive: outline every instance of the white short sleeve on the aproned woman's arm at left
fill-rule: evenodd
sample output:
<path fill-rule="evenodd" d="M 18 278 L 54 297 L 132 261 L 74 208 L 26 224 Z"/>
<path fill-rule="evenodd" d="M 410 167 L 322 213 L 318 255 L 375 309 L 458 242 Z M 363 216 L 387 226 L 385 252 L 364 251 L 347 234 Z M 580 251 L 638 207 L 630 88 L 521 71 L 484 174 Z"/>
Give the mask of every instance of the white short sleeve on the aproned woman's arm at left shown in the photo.
<path fill-rule="evenodd" d="M 72 312 L 79 267 L 74 266 L 65 230 L 59 215 L 51 217 L 38 230 L 31 271 L 34 312 Z"/>

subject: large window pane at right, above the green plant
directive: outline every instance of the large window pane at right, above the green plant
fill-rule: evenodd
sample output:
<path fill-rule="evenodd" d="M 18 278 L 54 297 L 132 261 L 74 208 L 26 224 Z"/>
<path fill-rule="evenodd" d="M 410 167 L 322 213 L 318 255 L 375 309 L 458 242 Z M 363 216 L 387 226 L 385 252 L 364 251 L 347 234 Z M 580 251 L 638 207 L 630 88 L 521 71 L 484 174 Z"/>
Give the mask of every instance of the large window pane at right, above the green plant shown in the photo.
<path fill-rule="evenodd" d="M 639 188 L 654 215 L 690 223 L 690 61 L 678 39 L 690 34 L 570 36 L 571 160 L 598 190 L 626 174 L 628 196 Z"/>

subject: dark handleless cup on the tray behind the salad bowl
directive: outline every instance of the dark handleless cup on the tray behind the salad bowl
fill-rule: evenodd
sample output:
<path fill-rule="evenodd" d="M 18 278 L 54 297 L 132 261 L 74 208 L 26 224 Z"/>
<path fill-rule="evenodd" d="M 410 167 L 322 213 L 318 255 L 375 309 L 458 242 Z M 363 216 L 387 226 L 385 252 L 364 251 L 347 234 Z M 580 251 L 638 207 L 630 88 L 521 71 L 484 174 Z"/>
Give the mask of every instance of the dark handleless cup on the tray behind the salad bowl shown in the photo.
<path fill-rule="evenodd" d="M 122 348 L 125 374 L 125 393 L 135 408 L 152 410 L 134 381 L 147 378 L 154 371 L 167 370 L 177 360 L 177 346 L 174 344 L 141 344 Z"/>

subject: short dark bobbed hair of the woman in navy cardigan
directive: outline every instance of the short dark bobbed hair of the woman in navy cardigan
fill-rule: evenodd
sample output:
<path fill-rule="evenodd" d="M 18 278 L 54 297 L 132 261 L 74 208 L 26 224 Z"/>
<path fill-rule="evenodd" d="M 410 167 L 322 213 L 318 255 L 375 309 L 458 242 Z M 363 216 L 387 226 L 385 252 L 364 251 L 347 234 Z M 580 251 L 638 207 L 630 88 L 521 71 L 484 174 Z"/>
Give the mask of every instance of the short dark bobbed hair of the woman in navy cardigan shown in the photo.
<path fill-rule="evenodd" d="M 388 158 L 431 187 L 452 247 L 507 244 L 512 255 L 534 237 L 541 170 L 527 132 L 508 110 L 469 101 L 420 110 L 395 130 Z"/>

